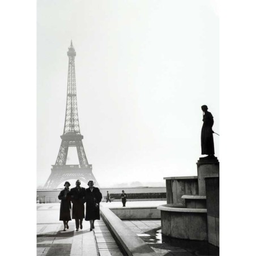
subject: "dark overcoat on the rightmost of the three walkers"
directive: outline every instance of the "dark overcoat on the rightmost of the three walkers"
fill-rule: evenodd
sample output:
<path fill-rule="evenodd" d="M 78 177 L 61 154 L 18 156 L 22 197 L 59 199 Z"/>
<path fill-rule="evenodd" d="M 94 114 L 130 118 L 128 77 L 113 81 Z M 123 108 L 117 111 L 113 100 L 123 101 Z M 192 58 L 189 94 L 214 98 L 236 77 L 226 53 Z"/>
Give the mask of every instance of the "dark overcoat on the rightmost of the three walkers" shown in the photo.
<path fill-rule="evenodd" d="M 88 187 L 86 189 L 86 220 L 99 220 L 100 219 L 100 202 L 102 194 L 98 187 L 93 187 L 93 190 Z M 99 204 L 96 207 L 96 203 Z"/>

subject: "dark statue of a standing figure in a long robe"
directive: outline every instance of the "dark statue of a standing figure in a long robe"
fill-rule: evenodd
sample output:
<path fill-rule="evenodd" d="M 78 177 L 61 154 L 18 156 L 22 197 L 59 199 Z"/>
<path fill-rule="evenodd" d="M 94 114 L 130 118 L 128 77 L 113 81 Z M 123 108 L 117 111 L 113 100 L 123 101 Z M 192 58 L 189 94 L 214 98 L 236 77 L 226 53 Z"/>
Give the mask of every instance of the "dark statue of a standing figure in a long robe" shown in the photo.
<path fill-rule="evenodd" d="M 214 157 L 214 131 L 212 126 L 214 125 L 214 117 L 206 105 L 201 106 L 203 110 L 203 127 L 201 131 L 201 148 L 202 155 L 208 155 L 208 157 Z"/>

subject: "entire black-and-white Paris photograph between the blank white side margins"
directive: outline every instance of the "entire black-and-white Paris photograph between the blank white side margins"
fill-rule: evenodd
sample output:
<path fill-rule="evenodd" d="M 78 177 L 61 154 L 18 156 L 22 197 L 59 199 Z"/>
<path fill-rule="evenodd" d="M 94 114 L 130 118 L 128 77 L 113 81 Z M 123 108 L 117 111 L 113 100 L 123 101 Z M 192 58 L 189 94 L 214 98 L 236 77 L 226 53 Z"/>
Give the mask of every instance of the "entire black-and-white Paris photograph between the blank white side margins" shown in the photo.
<path fill-rule="evenodd" d="M 219 255 L 219 160 L 214 1 L 37 1 L 37 255 Z"/>

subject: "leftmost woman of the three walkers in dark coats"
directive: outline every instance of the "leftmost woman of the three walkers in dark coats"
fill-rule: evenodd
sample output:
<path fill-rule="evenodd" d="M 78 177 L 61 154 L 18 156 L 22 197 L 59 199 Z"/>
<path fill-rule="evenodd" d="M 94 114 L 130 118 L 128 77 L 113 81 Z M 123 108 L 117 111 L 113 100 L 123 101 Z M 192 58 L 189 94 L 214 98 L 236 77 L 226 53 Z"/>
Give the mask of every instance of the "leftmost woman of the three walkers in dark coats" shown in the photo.
<path fill-rule="evenodd" d="M 70 210 L 71 210 L 71 202 L 70 202 L 70 196 L 69 196 L 69 181 L 66 181 L 65 189 L 61 190 L 61 193 L 58 195 L 58 199 L 61 200 L 61 208 L 59 211 L 59 220 L 63 221 L 64 229 L 63 231 L 66 231 L 66 228 L 69 229 L 69 221 L 71 220 L 70 216 Z"/>

